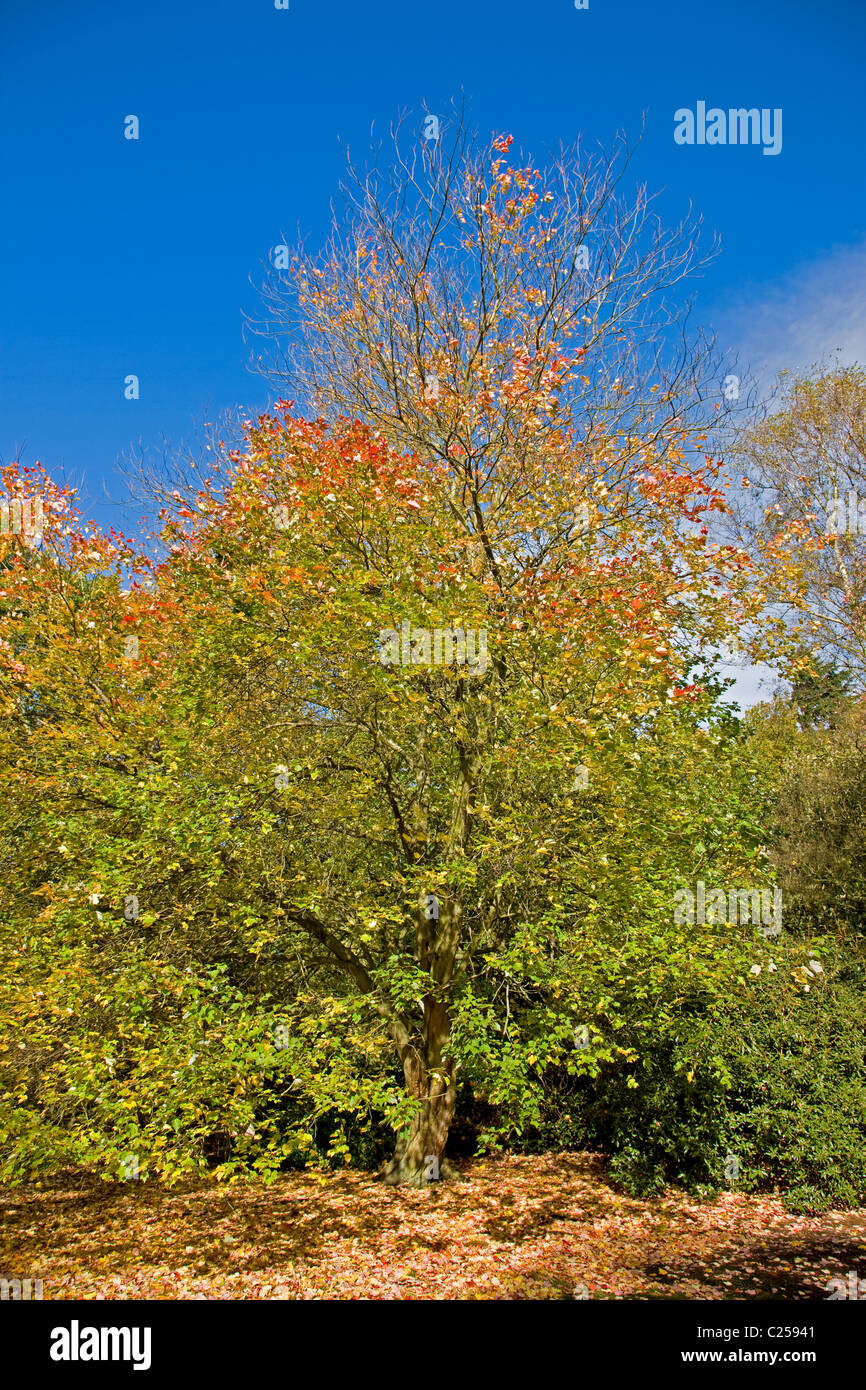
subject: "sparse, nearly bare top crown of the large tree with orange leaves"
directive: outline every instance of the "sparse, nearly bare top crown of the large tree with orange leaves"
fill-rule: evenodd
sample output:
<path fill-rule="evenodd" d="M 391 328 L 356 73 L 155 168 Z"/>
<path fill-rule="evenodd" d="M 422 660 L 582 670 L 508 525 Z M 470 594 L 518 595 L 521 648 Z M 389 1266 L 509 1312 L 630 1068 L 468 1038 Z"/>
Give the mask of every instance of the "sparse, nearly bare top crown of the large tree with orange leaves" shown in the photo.
<path fill-rule="evenodd" d="M 624 140 L 589 156 L 578 142 L 539 170 L 512 157 L 510 135 L 480 147 L 461 113 L 432 142 L 410 135 L 406 149 L 405 133 L 392 131 L 386 170 L 349 161 L 324 253 L 299 247 L 263 282 L 252 327 L 272 350 L 254 360 L 282 395 L 449 468 L 459 459 L 467 534 L 480 489 L 556 467 L 567 425 L 624 502 L 635 450 L 663 457 L 688 418 L 720 425 L 712 343 L 670 297 L 709 259 L 699 224 L 664 231 L 645 186 L 621 193 Z M 616 435 L 623 450 L 606 455 Z"/>

